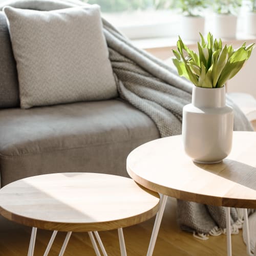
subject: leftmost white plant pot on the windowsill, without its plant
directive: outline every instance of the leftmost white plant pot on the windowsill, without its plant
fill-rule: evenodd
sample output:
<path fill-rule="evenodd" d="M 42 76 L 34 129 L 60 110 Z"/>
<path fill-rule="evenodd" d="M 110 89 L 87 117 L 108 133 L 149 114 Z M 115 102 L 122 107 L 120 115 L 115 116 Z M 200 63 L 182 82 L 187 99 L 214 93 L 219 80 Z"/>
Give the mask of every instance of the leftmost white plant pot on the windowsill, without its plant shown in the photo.
<path fill-rule="evenodd" d="M 204 17 L 182 16 L 179 35 L 184 40 L 200 41 L 199 32 L 204 34 L 204 24 Z"/>

